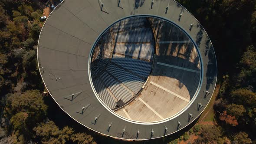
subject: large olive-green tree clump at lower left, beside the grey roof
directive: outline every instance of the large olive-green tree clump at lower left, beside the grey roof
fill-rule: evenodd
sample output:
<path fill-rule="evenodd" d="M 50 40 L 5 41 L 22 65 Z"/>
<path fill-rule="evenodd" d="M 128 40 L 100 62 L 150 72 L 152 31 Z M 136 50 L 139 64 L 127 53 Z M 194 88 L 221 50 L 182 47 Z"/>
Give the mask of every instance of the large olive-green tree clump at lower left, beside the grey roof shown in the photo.
<path fill-rule="evenodd" d="M 47 106 L 38 90 L 28 90 L 22 94 L 12 94 L 7 98 L 6 112 L 10 115 L 11 123 L 17 136 L 26 129 L 32 129 L 38 121 L 42 121 L 46 115 Z M 21 125 L 24 127 L 20 127 Z M 20 127 L 20 128 L 19 128 Z"/>

